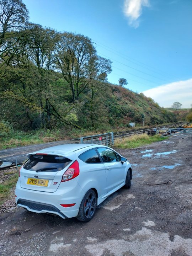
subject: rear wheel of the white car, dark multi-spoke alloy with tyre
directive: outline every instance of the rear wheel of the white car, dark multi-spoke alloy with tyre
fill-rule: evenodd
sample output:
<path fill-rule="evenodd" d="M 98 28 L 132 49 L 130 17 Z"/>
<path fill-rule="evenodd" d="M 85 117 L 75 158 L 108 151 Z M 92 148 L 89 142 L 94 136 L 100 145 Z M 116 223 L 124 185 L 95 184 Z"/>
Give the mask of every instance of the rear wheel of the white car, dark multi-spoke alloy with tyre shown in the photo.
<path fill-rule="evenodd" d="M 94 190 L 89 190 L 85 194 L 84 198 L 79 207 L 79 213 L 77 215 L 77 219 L 82 222 L 90 221 L 96 210 L 97 205 L 97 196 Z"/>

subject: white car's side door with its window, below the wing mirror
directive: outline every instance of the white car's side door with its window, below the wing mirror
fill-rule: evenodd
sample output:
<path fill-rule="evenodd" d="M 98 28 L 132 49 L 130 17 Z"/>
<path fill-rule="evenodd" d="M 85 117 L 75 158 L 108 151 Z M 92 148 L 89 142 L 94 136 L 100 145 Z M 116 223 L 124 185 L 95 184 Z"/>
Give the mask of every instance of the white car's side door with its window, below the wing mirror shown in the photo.
<path fill-rule="evenodd" d="M 109 148 L 97 148 L 105 166 L 107 192 L 121 187 L 126 178 L 126 165 L 120 161 L 120 156 Z"/>

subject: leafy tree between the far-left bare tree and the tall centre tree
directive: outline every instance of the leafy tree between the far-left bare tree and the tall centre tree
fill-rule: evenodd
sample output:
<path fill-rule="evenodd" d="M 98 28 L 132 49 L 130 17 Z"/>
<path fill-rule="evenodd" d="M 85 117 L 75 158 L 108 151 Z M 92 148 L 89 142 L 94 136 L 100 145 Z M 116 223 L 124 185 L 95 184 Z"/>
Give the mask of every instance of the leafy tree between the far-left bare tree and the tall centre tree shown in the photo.
<path fill-rule="evenodd" d="M 22 36 L 23 35 L 23 39 Z M 17 40 L 17 38 L 20 40 Z M 15 68 L 17 75 L 16 89 L 21 92 L 23 97 L 29 99 L 33 92 L 33 99 L 30 101 L 39 106 L 39 120 L 41 126 L 50 126 L 52 107 L 49 104 L 49 84 L 53 80 L 51 72 L 53 70 L 53 50 L 57 40 L 57 32 L 49 28 L 42 28 L 37 24 L 28 24 L 25 31 L 16 33 L 12 36 L 15 46 L 7 50 L 10 66 Z M 13 53 L 12 53 L 13 51 Z M 23 71 L 25 79 L 23 80 Z M 32 76 L 32 80 L 29 78 Z M 22 84 L 22 86 L 20 86 Z M 28 107 L 27 107 L 28 109 Z M 27 111 L 28 114 L 28 111 Z M 32 124 L 32 122 L 31 122 Z"/>

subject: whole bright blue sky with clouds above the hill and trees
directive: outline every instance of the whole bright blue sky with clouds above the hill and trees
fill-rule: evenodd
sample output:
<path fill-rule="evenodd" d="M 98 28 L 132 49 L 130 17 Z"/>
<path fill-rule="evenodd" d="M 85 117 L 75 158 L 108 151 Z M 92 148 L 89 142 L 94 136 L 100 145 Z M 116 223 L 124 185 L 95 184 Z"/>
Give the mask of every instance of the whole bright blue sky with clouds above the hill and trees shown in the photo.
<path fill-rule="evenodd" d="M 23 2 L 31 22 L 90 37 L 98 54 L 113 61 L 108 75 L 113 84 L 126 78 L 128 89 L 144 92 L 160 106 L 179 101 L 190 107 L 191 0 Z"/>

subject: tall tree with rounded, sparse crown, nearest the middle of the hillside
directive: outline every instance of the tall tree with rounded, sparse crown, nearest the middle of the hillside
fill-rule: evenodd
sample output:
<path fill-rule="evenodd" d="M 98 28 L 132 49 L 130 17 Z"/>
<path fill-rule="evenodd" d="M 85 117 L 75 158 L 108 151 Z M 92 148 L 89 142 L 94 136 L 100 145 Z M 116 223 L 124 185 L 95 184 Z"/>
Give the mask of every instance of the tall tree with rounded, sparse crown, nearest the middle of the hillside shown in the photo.
<path fill-rule="evenodd" d="M 55 66 L 68 82 L 73 102 L 86 89 L 84 80 L 87 77 L 89 60 L 95 53 L 90 38 L 69 32 L 60 34 L 55 49 Z"/>

